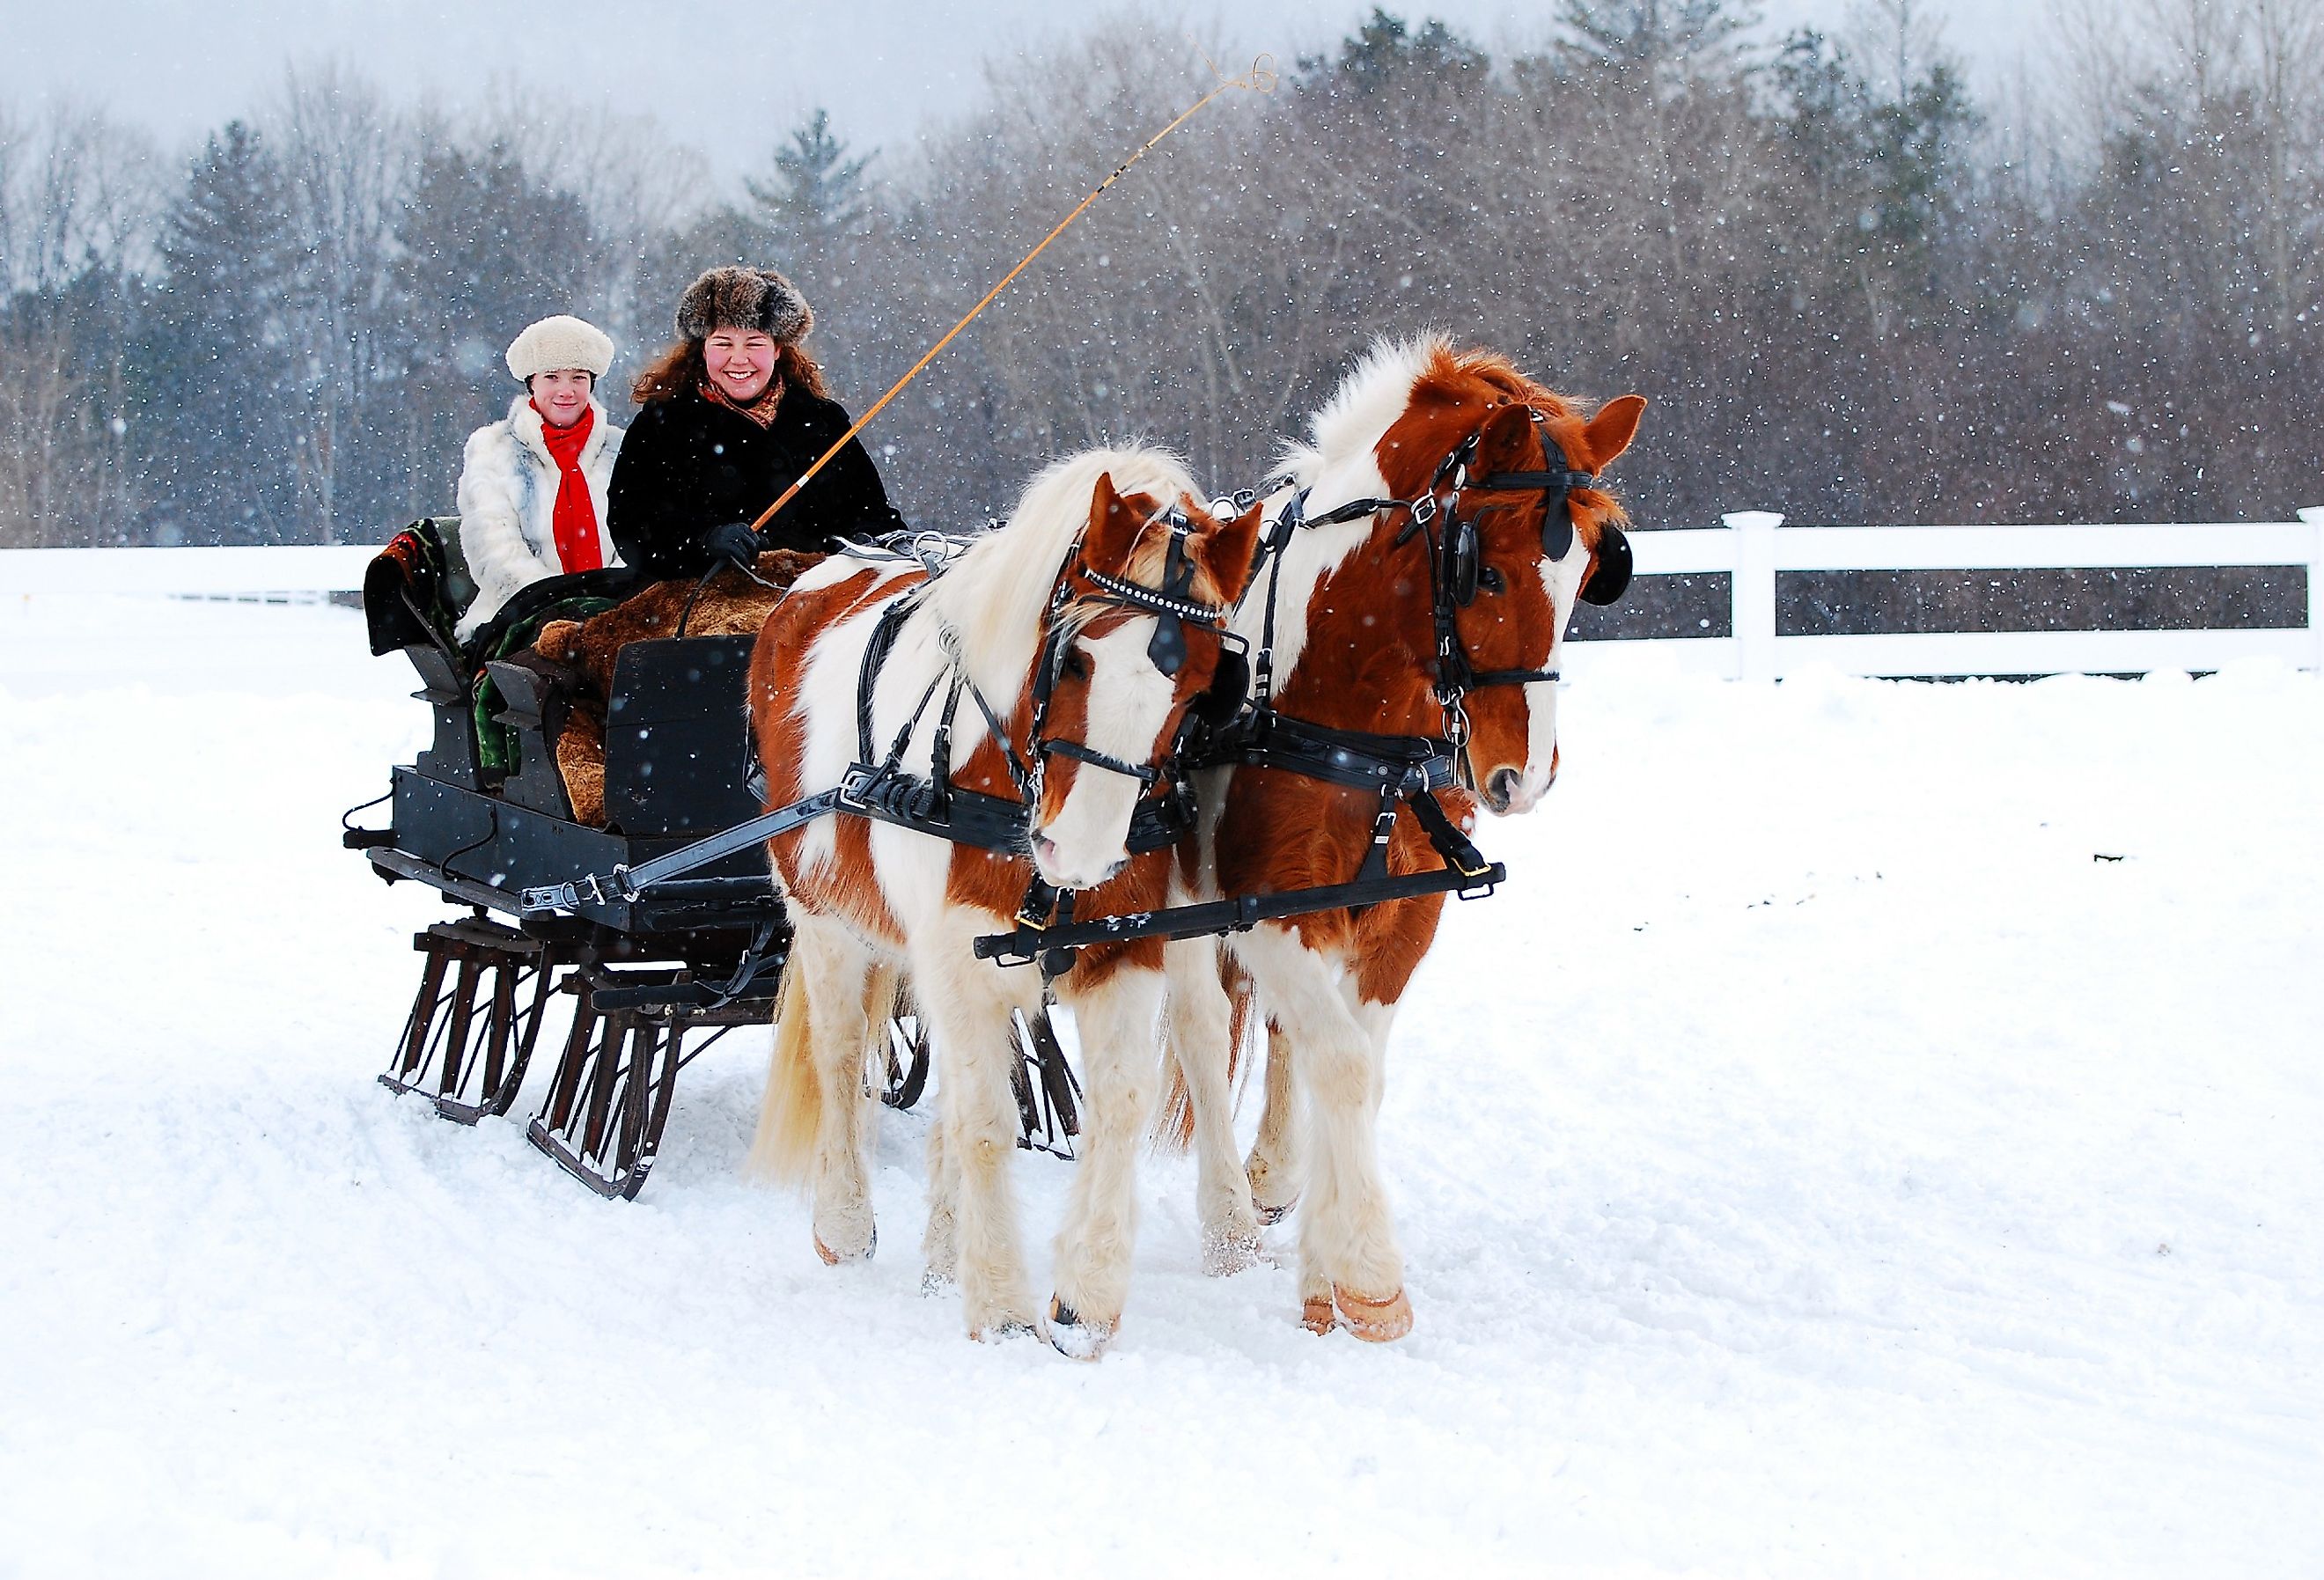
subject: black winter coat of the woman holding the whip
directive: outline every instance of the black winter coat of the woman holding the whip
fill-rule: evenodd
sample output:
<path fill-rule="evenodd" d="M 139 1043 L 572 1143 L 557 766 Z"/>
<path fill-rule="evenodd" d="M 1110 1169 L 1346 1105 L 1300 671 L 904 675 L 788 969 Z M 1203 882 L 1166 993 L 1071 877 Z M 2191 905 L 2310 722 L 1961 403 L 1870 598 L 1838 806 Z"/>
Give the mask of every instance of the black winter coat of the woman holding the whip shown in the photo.
<path fill-rule="evenodd" d="M 848 421 L 839 402 L 797 386 L 783 390 L 767 428 L 697 390 L 646 402 L 630 421 L 607 486 L 607 530 L 623 565 L 662 581 L 700 576 L 711 567 L 704 541 L 711 527 L 755 520 L 848 430 Z M 848 439 L 832 465 L 760 527 L 760 541 L 816 553 L 839 534 L 902 527 L 862 439 Z"/>

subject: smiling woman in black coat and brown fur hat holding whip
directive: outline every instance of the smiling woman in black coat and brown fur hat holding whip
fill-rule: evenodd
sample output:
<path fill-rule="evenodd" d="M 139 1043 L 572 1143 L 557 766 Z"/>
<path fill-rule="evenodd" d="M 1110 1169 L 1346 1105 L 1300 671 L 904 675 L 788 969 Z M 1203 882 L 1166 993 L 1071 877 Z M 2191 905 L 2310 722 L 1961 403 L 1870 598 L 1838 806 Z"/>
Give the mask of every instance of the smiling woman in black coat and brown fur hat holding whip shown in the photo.
<path fill-rule="evenodd" d="M 700 576 L 762 548 L 825 551 L 904 527 L 862 441 L 753 537 L 751 520 L 848 430 L 799 349 L 816 316 L 774 270 L 709 270 L 679 300 L 679 344 L 639 374 L 607 527 L 646 576 Z"/>

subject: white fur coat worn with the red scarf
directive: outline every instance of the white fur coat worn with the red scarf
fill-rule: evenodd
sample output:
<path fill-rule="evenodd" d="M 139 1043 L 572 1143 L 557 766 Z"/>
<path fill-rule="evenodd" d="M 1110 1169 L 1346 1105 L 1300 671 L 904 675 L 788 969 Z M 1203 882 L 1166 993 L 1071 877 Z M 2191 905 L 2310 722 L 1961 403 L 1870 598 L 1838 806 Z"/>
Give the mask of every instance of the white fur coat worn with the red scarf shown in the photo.
<path fill-rule="evenodd" d="M 588 502 L 597 511 L 597 551 L 614 565 L 614 537 L 604 530 L 604 486 L 614 476 L 623 430 L 614 428 L 595 400 L 588 409 L 595 425 L 581 446 L 581 476 L 588 479 Z M 558 462 L 548 458 L 532 397 L 518 395 L 504 421 L 467 437 L 460 458 L 460 551 L 467 574 L 476 579 L 476 602 L 460 616 L 460 641 L 500 613 L 518 588 L 562 574 L 555 509 Z"/>

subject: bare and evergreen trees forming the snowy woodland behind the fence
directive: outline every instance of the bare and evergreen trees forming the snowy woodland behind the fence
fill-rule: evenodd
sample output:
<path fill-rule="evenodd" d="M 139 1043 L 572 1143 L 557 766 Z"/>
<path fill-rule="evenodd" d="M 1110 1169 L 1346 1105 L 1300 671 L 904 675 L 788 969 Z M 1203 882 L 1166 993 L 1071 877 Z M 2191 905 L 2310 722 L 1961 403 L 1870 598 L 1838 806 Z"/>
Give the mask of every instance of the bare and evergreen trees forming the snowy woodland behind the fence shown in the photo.
<path fill-rule="evenodd" d="M 1645 527 L 2324 497 L 2324 0 L 2092 5 L 2003 102 L 1922 0 L 1845 40 L 1750 21 L 1562 0 L 1487 53 L 1373 12 L 1043 253 L 867 435 L 890 490 L 971 525 L 1122 437 L 1246 483 L 1373 337 L 1441 328 L 1645 393 Z M 732 193 L 523 88 L 449 116 L 293 72 L 177 158 L 0 107 L 0 546 L 376 541 L 449 509 L 518 328 L 604 325 L 621 421 L 713 263 L 792 274 L 862 409 L 1206 86 L 1185 53 L 1099 23 L 911 156 L 818 112 Z"/>

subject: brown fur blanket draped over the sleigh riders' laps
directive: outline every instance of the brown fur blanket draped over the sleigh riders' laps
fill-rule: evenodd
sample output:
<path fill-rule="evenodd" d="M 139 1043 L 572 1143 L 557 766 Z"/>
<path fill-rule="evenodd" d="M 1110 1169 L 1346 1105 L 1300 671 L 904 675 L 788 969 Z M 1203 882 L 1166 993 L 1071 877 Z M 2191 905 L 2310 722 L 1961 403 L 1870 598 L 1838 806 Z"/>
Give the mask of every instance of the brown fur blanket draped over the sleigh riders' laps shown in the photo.
<path fill-rule="evenodd" d="M 686 634 L 755 637 L 790 583 L 820 560 L 818 553 L 790 548 L 762 553 L 758 576 L 774 590 L 734 572 L 720 572 L 702 588 L 702 597 L 695 597 Z M 676 637 L 679 616 L 693 595 L 693 581 L 655 581 L 637 597 L 588 620 L 551 620 L 535 639 L 535 653 L 581 676 L 565 727 L 558 730 L 558 774 L 565 778 L 565 797 L 574 804 L 576 823 L 604 827 L 604 709 L 614 695 L 614 658 L 632 641 Z"/>

